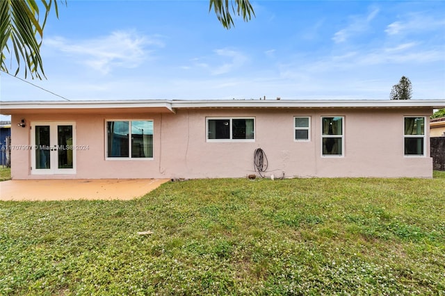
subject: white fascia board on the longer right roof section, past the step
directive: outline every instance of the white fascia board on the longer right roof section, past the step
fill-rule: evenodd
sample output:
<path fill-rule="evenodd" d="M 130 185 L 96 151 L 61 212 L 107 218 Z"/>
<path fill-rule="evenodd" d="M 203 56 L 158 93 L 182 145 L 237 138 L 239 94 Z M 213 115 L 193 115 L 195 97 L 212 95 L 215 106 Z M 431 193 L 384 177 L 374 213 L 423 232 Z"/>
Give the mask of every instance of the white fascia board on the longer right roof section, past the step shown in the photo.
<path fill-rule="evenodd" d="M 445 100 L 207 100 L 172 101 L 172 108 L 445 108 Z"/>

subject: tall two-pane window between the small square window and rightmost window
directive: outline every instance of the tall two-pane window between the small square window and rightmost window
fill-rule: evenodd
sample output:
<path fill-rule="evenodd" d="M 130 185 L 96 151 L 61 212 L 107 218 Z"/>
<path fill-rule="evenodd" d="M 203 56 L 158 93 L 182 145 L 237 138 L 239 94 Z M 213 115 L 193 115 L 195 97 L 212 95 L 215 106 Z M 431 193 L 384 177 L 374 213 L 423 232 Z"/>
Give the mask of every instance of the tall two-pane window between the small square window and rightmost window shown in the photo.
<path fill-rule="evenodd" d="M 321 117 L 323 156 L 343 156 L 343 117 Z"/>

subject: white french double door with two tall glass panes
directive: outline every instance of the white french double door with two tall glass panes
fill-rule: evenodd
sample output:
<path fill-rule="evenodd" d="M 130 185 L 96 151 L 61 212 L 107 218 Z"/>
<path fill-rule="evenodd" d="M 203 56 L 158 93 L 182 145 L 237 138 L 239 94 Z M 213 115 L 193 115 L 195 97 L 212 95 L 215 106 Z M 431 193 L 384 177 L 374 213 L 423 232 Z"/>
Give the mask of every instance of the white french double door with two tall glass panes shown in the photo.
<path fill-rule="evenodd" d="M 31 174 L 76 173 L 76 123 L 31 123 Z"/>

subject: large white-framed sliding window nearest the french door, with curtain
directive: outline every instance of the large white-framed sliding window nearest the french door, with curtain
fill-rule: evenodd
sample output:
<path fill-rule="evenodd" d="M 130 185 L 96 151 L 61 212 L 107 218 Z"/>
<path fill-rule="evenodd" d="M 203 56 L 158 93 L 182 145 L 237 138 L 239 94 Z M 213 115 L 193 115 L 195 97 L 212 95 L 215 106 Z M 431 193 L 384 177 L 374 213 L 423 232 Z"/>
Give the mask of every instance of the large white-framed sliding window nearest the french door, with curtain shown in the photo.
<path fill-rule="evenodd" d="M 153 121 L 107 121 L 107 158 L 153 158 Z"/>

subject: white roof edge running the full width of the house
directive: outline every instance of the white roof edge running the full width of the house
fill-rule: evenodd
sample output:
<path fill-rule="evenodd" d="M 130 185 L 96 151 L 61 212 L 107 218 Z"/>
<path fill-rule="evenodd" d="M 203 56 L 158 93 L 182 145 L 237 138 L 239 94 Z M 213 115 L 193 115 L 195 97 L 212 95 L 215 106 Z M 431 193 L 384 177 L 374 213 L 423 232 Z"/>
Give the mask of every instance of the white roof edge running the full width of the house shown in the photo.
<path fill-rule="evenodd" d="M 1 114 L 19 110 L 86 110 L 109 108 L 445 108 L 445 99 L 416 100 L 131 100 L 131 101 L 0 101 Z"/>

